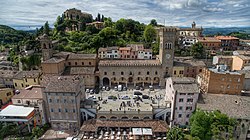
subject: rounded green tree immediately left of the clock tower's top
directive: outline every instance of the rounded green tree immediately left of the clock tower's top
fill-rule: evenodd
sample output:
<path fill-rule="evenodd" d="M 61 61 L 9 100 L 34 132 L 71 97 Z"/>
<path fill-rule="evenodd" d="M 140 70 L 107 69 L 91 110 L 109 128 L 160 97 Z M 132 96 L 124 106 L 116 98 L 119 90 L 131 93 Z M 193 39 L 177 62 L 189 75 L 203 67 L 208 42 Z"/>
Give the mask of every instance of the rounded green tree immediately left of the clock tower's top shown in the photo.
<path fill-rule="evenodd" d="M 149 47 L 152 46 L 153 41 L 156 39 L 156 30 L 152 25 L 146 26 L 144 30 L 144 39 Z"/>

